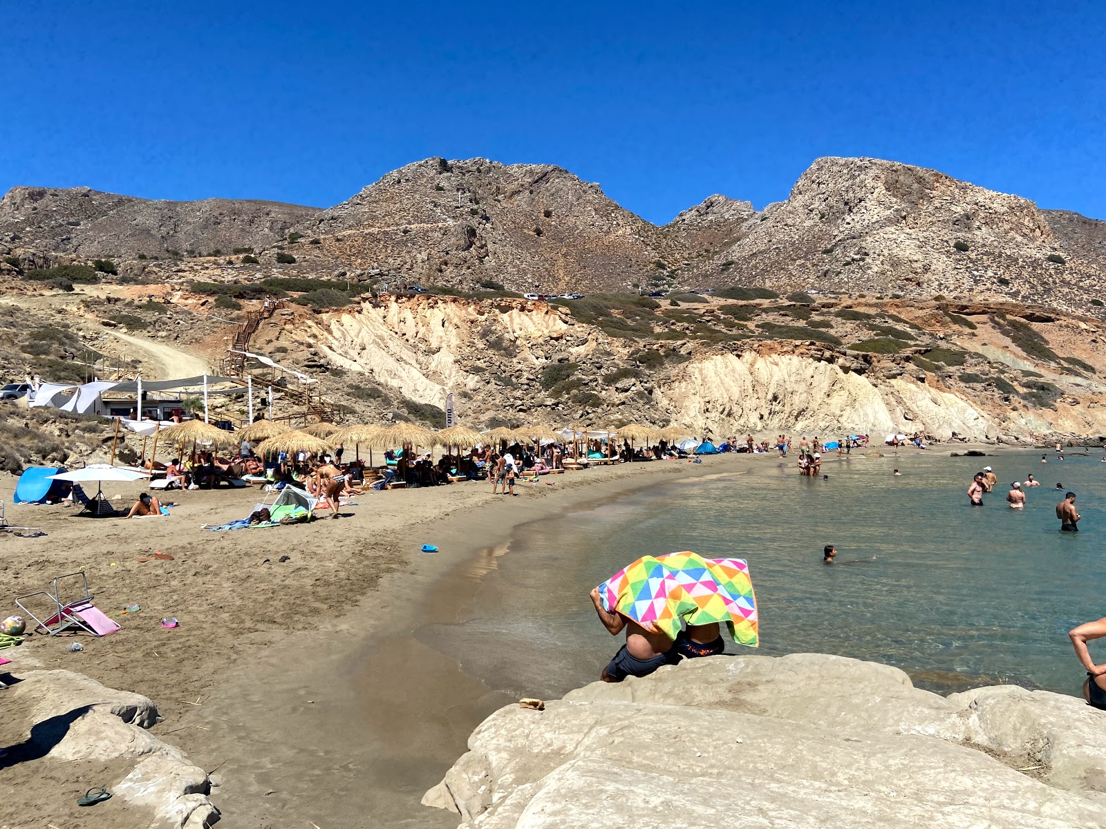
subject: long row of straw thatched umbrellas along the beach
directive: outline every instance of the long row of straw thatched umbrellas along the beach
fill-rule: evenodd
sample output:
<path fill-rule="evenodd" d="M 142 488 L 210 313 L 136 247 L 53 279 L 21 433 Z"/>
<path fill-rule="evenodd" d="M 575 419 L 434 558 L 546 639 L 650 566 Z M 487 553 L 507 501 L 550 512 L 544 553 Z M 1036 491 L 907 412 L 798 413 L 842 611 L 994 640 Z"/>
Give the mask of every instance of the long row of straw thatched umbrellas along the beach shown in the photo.
<path fill-rule="evenodd" d="M 629 423 L 613 429 L 595 429 L 592 427 L 580 427 L 573 430 L 573 442 L 576 434 L 583 436 L 586 441 L 588 437 L 605 433 L 608 439 L 613 436 L 633 442 L 636 441 L 678 441 L 689 437 L 689 432 L 678 427 L 667 429 L 656 429 L 653 427 Z M 276 454 L 279 452 L 296 453 L 313 452 L 322 454 L 335 447 L 354 447 L 359 453 L 362 447 L 365 449 L 394 449 L 396 447 L 473 447 L 486 443 L 528 443 L 540 441 L 555 441 L 557 443 L 567 442 L 563 434 L 544 424 L 520 427 L 509 429 L 500 427 L 488 432 L 478 432 L 465 426 L 453 426 L 447 429 L 434 431 L 417 423 L 395 423 L 389 427 L 378 427 L 372 424 L 351 426 L 344 429 L 332 423 L 312 423 L 303 429 L 291 429 L 272 420 L 259 420 L 255 423 L 238 430 L 227 432 L 217 427 L 205 423 L 202 420 L 187 420 L 182 423 L 175 423 L 159 431 L 159 437 L 169 441 L 171 445 L 186 447 L 189 443 L 195 449 L 196 444 L 208 447 L 228 447 L 242 441 L 258 442 L 254 452 L 260 455 Z M 154 451 L 157 451 L 155 443 Z M 359 457 L 359 454 L 358 454 Z"/>

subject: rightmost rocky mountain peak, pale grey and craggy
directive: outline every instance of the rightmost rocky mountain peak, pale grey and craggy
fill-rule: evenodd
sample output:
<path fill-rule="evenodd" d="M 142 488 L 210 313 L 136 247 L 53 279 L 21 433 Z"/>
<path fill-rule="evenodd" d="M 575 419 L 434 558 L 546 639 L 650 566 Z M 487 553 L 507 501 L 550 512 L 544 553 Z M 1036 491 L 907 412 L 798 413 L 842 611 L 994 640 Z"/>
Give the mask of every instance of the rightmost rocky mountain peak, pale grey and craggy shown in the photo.
<path fill-rule="evenodd" d="M 1106 222 L 894 161 L 820 158 L 737 237 L 705 281 L 1072 309 L 1106 293 Z"/>

